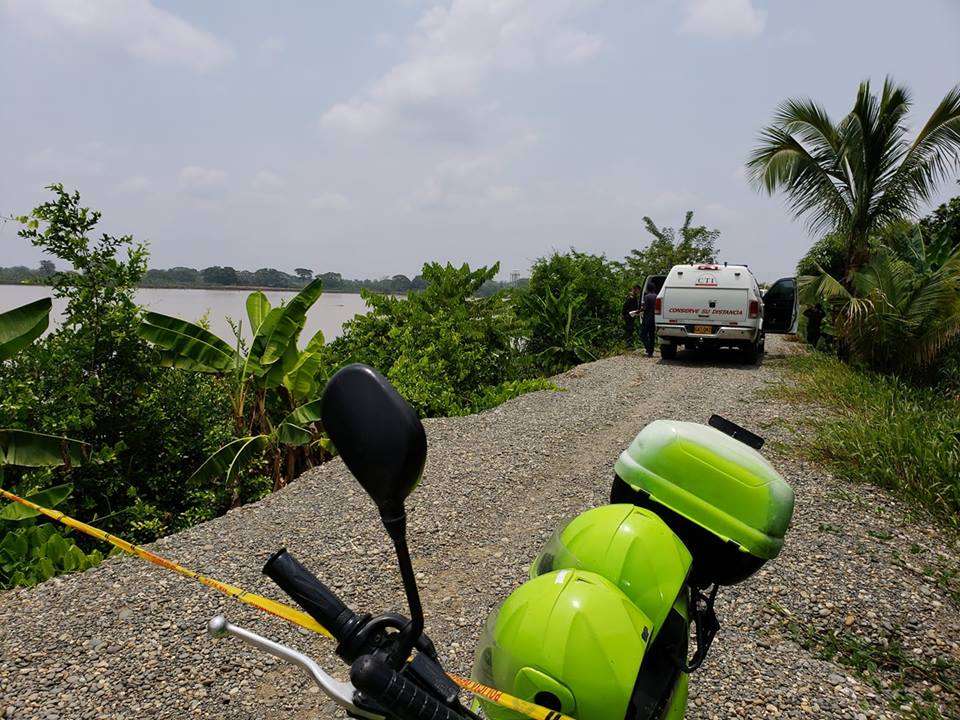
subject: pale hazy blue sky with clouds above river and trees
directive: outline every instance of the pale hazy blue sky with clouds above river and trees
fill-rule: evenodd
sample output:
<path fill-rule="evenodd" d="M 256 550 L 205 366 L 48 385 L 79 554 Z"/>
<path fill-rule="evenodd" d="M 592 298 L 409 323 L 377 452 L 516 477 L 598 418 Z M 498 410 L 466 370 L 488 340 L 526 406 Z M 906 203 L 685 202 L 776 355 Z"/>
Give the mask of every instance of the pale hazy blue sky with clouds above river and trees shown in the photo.
<path fill-rule="evenodd" d="M 743 172 L 776 106 L 889 74 L 917 128 L 958 37 L 957 0 L 0 0 L 0 215 L 62 182 L 153 267 L 504 276 L 690 209 L 770 280 L 812 241 Z"/>

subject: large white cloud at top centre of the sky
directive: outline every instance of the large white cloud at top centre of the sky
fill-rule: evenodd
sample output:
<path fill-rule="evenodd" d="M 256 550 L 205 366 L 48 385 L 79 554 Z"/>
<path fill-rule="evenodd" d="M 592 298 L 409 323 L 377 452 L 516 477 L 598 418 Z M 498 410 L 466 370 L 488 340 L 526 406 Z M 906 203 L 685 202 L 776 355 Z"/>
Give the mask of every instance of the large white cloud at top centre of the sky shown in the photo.
<path fill-rule="evenodd" d="M 406 39 L 407 56 L 367 90 L 321 118 L 333 130 L 414 129 L 456 137 L 476 122 L 474 101 L 502 71 L 580 63 L 603 46 L 571 27 L 584 0 L 453 0 L 434 4 Z"/>

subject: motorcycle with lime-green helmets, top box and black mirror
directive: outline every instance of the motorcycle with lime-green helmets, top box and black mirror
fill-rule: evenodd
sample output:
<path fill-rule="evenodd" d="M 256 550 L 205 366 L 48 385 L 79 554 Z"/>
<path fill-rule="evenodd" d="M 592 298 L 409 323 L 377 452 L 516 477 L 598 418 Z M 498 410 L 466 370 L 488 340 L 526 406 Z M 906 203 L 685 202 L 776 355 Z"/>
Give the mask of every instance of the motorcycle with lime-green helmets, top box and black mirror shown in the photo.
<path fill-rule="evenodd" d="M 351 682 L 223 618 L 210 630 L 302 667 L 352 717 L 682 718 L 691 673 L 719 629 L 719 588 L 776 557 L 793 514 L 793 491 L 759 453 L 761 438 L 719 416 L 709 426 L 653 422 L 617 460 L 610 504 L 555 533 L 530 580 L 491 614 L 472 680 L 457 678 L 424 632 L 407 547 L 404 500 L 423 471 L 423 426 L 363 365 L 334 375 L 321 404 L 324 428 L 394 542 L 410 617 L 355 613 L 281 550 L 264 573 L 337 640 Z M 463 688 L 478 698 L 472 707 Z"/>

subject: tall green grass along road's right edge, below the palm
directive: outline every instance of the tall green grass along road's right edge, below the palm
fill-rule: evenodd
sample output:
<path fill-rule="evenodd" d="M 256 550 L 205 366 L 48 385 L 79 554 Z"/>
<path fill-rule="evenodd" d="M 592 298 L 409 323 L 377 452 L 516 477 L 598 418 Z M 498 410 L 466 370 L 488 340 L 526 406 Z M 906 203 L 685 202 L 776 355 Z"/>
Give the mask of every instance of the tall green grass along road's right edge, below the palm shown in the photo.
<path fill-rule="evenodd" d="M 787 373 L 778 397 L 826 411 L 803 422 L 814 459 L 960 526 L 960 397 L 820 353 L 790 358 Z"/>

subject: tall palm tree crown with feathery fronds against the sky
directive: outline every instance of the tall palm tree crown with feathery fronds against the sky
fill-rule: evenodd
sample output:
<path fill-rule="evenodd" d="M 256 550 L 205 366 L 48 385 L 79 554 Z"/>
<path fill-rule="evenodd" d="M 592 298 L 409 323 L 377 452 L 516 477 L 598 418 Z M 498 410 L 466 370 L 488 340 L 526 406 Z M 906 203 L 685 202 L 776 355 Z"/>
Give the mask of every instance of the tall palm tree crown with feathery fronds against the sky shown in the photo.
<path fill-rule="evenodd" d="M 869 257 L 870 236 L 915 215 L 960 165 L 960 85 L 913 141 L 904 126 L 910 106 L 910 91 L 890 78 L 880 97 L 862 82 L 853 109 L 836 124 L 813 100 L 787 100 L 747 162 L 753 184 L 785 192 L 811 232 L 846 238 L 848 288 Z"/>

